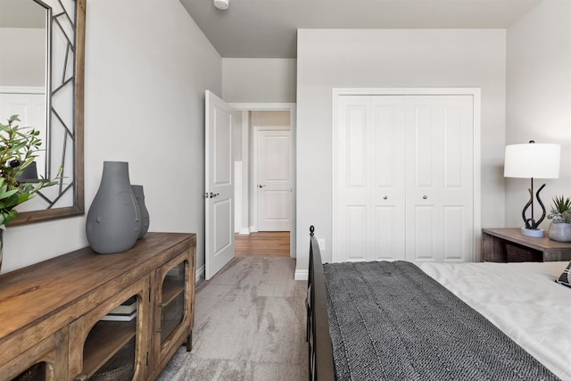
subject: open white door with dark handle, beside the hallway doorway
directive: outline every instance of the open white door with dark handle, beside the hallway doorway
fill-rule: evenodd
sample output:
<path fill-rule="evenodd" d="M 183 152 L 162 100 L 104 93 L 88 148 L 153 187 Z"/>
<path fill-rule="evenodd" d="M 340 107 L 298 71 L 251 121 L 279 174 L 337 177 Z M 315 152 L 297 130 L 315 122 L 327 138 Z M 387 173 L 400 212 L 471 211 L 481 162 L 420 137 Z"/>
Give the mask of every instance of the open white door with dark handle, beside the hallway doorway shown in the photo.
<path fill-rule="evenodd" d="M 232 112 L 206 90 L 205 120 L 205 277 L 234 258 L 234 170 Z"/>

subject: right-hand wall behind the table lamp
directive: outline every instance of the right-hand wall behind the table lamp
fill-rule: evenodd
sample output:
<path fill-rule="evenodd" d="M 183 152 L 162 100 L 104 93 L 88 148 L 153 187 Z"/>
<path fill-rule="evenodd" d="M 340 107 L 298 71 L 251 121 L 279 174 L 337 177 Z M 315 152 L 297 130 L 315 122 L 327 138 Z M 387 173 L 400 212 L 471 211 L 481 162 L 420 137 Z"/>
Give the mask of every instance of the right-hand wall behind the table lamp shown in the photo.
<path fill-rule="evenodd" d="M 534 181 L 535 190 L 547 184 L 541 195 L 549 213 L 553 196 L 571 196 L 571 1 L 543 1 L 509 27 L 507 40 L 506 144 L 561 144 L 559 179 Z M 506 184 L 506 225 L 522 227 L 530 180 Z M 541 217 L 539 206 L 534 216 Z"/>

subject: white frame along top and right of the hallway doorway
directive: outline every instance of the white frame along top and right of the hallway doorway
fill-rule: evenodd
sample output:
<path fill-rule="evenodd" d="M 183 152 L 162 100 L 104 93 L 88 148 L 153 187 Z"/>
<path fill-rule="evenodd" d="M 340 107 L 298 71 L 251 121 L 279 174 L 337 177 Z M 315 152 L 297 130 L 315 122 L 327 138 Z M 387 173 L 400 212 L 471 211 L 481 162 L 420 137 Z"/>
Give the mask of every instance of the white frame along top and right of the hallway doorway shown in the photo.
<path fill-rule="evenodd" d="M 291 142 L 291 160 L 292 160 L 292 212 L 291 212 L 291 228 L 290 228 L 290 239 L 289 239 L 289 247 L 290 247 L 290 256 L 292 258 L 296 257 L 295 253 L 295 240 L 296 240 L 296 214 L 295 214 L 295 205 L 296 205 L 296 184 L 295 184 L 295 162 L 297 160 L 297 147 L 295 145 L 295 139 L 297 135 L 297 105 L 293 103 L 235 103 L 229 104 L 232 106 L 236 111 L 288 111 L 289 112 L 289 127 L 290 127 L 290 142 Z M 244 152 L 243 152 L 244 154 Z M 243 160 L 244 162 L 244 160 Z M 254 226 L 250 226 L 250 232 L 255 233 L 257 230 Z"/>

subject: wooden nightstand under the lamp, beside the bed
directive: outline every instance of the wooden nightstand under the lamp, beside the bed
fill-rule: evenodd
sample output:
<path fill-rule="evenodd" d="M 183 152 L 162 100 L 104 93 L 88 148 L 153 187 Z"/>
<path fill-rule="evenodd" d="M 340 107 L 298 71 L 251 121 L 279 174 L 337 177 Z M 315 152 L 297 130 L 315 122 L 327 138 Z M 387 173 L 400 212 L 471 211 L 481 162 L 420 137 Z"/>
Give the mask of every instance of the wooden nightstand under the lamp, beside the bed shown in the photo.
<path fill-rule="evenodd" d="M 484 261 L 571 261 L 571 243 L 522 236 L 520 228 L 482 229 Z"/>

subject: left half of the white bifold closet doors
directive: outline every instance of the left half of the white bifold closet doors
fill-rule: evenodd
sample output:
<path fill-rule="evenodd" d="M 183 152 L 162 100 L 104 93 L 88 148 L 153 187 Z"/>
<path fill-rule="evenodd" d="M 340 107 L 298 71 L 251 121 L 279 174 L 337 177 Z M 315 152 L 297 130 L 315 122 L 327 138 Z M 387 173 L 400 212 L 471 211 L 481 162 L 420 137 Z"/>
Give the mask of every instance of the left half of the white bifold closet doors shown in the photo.
<path fill-rule="evenodd" d="M 333 261 L 405 258 L 403 96 L 340 96 Z"/>

